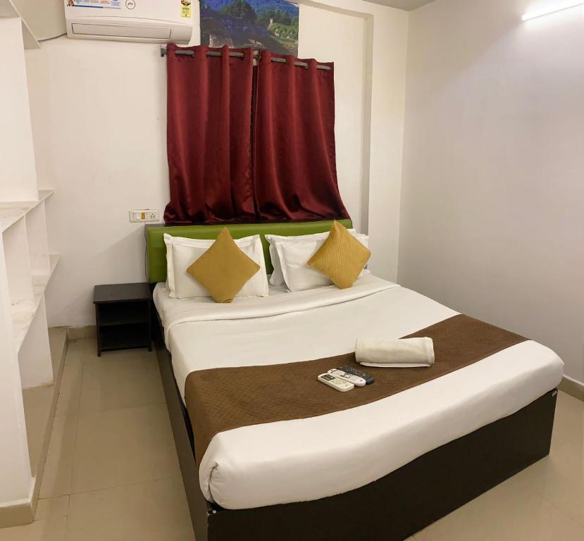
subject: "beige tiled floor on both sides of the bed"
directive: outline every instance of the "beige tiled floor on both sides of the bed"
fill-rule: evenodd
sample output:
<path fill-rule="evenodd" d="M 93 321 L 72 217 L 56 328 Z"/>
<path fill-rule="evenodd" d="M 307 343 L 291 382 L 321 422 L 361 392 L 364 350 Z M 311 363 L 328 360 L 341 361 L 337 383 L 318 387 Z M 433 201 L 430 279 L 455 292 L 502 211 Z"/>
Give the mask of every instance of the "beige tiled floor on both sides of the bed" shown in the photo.
<path fill-rule="evenodd" d="M 584 403 L 560 392 L 549 457 L 411 540 L 583 541 L 583 446 Z M 193 541 L 154 354 L 69 344 L 35 522 L 0 529 L 20 540 Z"/>

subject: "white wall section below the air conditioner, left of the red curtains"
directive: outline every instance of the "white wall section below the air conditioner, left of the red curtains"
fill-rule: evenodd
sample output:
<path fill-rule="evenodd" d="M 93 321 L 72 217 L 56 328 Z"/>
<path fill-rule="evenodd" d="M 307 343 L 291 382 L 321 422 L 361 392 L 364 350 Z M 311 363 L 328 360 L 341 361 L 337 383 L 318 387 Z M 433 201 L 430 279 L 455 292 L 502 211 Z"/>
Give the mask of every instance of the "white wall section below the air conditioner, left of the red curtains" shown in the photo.
<path fill-rule="evenodd" d="M 166 72 L 153 44 L 66 37 L 27 51 L 39 185 L 51 251 L 49 325 L 94 324 L 95 284 L 144 281 L 130 209 L 168 203 Z"/>

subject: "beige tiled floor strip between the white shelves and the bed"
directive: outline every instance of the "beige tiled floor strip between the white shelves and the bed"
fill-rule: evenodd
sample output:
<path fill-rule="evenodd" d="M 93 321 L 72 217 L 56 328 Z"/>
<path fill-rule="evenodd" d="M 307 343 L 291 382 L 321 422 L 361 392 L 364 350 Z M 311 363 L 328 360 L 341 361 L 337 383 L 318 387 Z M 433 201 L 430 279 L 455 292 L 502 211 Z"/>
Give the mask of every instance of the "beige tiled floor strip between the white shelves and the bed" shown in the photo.
<path fill-rule="evenodd" d="M 0 541 L 193 541 L 154 353 L 70 342 L 35 522 Z"/>

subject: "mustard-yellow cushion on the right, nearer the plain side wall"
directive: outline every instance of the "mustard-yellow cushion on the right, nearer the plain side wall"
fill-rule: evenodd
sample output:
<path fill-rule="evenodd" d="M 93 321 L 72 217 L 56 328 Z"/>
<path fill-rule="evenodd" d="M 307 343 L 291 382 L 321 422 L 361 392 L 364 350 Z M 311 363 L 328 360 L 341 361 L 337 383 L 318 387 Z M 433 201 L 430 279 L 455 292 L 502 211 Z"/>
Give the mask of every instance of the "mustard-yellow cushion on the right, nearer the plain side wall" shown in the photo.
<path fill-rule="evenodd" d="M 344 290 L 354 284 L 370 257 L 371 251 L 335 222 L 323 245 L 309 259 L 309 266 Z"/>

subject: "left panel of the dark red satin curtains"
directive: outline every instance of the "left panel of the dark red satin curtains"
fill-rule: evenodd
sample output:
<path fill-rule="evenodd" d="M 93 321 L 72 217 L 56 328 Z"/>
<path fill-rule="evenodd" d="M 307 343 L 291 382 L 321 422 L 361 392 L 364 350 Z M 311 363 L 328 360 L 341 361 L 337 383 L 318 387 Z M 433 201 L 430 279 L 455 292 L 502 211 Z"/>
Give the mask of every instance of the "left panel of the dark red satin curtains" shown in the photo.
<path fill-rule="evenodd" d="M 175 54 L 175 51 L 193 51 Z M 251 49 L 168 44 L 166 223 L 255 218 L 251 182 Z M 214 49 L 217 51 L 218 49 Z M 229 56 L 241 52 L 243 58 Z"/>

